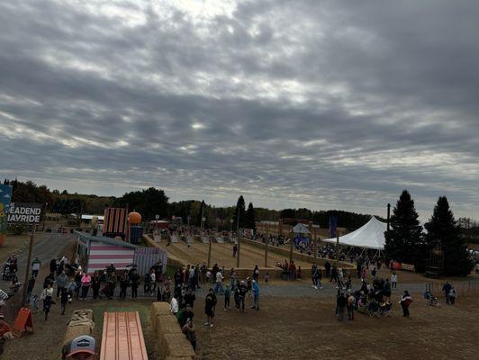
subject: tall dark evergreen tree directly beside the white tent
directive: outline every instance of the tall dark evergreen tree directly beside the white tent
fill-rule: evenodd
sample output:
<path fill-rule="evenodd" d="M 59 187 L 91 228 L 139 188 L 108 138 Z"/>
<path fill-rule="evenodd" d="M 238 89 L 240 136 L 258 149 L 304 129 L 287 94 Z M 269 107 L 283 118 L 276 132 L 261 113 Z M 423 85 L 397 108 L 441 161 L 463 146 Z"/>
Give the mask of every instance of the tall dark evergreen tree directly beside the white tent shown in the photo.
<path fill-rule="evenodd" d="M 425 251 L 422 242 L 422 227 L 414 208 L 411 194 L 404 190 L 393 209 L 390 230 L 384 233 L 385 253 L 388 259 L 414 264 L 421 271 Z"/>

